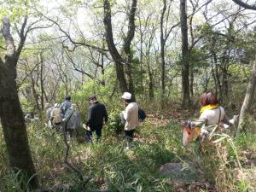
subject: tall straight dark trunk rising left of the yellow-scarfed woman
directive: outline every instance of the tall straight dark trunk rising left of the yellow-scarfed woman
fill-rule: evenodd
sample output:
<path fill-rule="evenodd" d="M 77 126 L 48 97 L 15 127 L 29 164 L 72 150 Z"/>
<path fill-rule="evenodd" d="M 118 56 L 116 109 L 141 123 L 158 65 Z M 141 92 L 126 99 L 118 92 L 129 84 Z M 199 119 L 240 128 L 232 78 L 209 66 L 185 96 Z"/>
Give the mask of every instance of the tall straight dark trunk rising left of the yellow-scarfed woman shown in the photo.
<path fill-rule="evenodd" d="M 182 107 L 189 108 L 189 42 L 188 42 L 188 24 L 187 24 L 187 10 L 186 0 L 180 0 L 180 23 L 182 33 L 182 90 L 183 100 Z"/>

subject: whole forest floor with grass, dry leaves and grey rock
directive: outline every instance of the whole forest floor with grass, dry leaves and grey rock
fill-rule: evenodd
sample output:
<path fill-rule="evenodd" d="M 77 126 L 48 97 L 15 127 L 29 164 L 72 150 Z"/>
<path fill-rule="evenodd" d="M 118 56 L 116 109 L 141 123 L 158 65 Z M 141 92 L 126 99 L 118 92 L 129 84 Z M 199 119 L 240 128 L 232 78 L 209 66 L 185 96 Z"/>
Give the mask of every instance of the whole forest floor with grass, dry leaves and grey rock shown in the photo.
<path fill-rule="evenodd" d="M 256 191 L 256 134 L 243 133 L 201 152 L 196 142 L 182 145 L 180 121 L 189 118 L 189 111 L 182 110 L 148 114 L 137 128 L 131 150 L 125 150 L 123 134 L 109 127 L 104 127 L 102 141 L 94 144 L 85 143 L 80 130 L 79 137 L 69 142 L 68 160 L 84 177 L 91 173 L 87 191 Z M 46 188 L 72 183 L 69 191 L 81 191 L 78 176 L 63 163 L 61 132 L 41 122 L 28 125 L 27 131 L 40 183 Z M 7 169 L 1 131 L 0 145 L 0 191 L 14 191 L 10 189 L 19 180 Z"/>

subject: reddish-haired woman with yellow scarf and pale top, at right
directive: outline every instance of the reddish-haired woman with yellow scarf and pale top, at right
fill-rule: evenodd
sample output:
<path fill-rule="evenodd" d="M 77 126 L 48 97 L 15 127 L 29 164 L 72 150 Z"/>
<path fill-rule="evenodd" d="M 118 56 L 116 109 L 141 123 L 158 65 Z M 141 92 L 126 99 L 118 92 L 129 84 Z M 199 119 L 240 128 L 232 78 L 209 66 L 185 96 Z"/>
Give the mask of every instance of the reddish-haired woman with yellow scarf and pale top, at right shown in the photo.
<path fill-rule="evenodd" d="M 228 128 L 229 126 L 234 125 L 238 115 L 234 115 L 233 119 L 228 119 L 224 108 L 218 105 L 218 99 L 211 91 L 205 92 L 201 96 L 201 110 L 200 110 L 200 117 L 195 121 L 187 121 L 185 123 L 185 127 L 187 127 L 187 137 L 193 137 L 193 129 L 195 127 L 200 127 L 201 129 L 197 130 L 201 137 L 205 137 L 209 134 L 209 127 L 211 125 L 218 125 L 222 124 L 223 128 Z M 192 132 L 189 132 L 192 131 Z M 183 132 L 183 145 L 187 144 L 186 138 L 184 138 Z M 192 138 L 191 138 L 192 139 Z"/>

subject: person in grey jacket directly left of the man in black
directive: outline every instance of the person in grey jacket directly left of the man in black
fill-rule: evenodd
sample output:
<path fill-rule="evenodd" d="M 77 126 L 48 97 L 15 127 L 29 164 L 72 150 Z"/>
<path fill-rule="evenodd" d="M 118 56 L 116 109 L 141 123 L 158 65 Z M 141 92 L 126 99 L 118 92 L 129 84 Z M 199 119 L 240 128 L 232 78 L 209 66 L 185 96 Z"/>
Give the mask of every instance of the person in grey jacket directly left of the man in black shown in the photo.
<path fill-rule="evenodd" d="M 77 104 L 73 103 L 64 115 L 64 128 L 66 128 L 67 138 L 74 136 L 74 131 L 77 131 L 80 126 L 81 114 Z"/>

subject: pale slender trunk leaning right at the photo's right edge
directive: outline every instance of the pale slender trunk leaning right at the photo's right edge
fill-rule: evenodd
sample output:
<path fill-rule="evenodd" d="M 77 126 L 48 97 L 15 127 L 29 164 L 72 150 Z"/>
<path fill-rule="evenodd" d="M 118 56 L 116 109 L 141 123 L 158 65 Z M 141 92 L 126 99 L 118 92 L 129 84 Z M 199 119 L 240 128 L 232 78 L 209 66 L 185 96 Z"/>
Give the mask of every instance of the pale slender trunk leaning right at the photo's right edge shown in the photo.
<path fill-rule="evenodd" d="M 247 85 L 247 93 L 244 97 L 244 100 L 243 100 L 243 103 L 241 106 L 241 111 L 240 111 L 240 115 L 239 115 L 239 123 L 238 123 L 238 128 L 236 131 L 237 134 L 239 134 L 240 131 L 242 131 L 244 129 L 245 114 L 247 112 L 247 109 L 250 107 L 250 103 L 252 102 L 255 85 L 256 85 L 256 61 L 254 61 L 253 73 L 252 73 L 251 79 L 249 80 L 249 83 Z"/>

